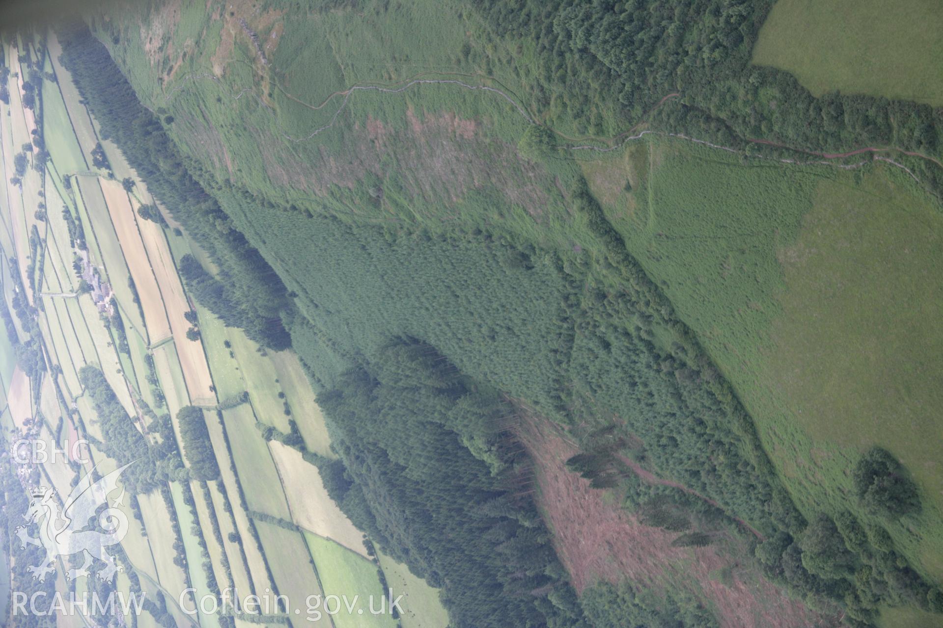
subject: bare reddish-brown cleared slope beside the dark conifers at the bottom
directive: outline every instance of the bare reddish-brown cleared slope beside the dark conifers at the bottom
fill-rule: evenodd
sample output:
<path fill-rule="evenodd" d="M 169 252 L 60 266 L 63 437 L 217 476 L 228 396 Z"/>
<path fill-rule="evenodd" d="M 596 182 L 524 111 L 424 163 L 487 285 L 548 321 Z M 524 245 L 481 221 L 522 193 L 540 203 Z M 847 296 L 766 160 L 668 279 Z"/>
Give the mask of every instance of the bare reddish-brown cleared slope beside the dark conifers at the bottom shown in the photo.
<path fill-rule="evenodd" d="M 567 470 L 564 462 L 579 449 L 560 427 L 526 411 L 521 416 L 518 436 L 535 465 L 538 507 L 553 530 L 557 556 L 577 593 L 600 580 L 618 583 L 627 578 L 639 588 L 658 592 L 687 590 L 716 613 L 721 628 L 838 625 L 837 617 L 814 613 L 789 599 L 751 559 L 741 563 L 736 551 L 746 551 L 742 541 L 672 547 L 677 533 L 639 523 L 606 499 L 604 491 L 590 489 L 586 479 Z"/>

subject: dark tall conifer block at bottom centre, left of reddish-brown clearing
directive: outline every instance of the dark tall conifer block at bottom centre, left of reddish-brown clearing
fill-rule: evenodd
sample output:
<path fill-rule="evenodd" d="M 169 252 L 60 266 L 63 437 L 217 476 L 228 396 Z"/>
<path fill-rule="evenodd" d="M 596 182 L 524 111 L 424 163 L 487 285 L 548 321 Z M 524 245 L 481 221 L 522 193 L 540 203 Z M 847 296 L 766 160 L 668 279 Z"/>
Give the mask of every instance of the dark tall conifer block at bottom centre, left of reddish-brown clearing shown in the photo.
<path fill-rule="evenodd" d="M 501 418 L 500 400 L 475 388 L 431 346 L 385 347 L 319 397 L 343 460 L 322 465 L 324 484 L 384 551 L 443 589 L 456 628 L 583 625 L 523 487 L 526 461 L 496 441 L 493 474 L 463 444 L 479 429 L 468 409 L 478 426 Z"/>

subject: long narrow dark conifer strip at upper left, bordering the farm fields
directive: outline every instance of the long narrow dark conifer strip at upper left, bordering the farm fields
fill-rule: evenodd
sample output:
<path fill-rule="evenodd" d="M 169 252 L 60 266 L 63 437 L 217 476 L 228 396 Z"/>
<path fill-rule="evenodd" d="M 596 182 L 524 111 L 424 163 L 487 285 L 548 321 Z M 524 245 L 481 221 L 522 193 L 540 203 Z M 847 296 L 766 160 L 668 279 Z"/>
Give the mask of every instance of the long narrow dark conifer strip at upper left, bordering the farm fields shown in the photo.
<path fill-rule="evenodd" d="M 190 176 L 184 157 L 157 116 L 141 106 L 108 49 L 85 24 L 63 25 L 57 32 L 62 63 L 95 112 L 103 137 L 115 141 L 157 200 L 220 268 L 228 324 L 243 328 L 260 345 L 276 350 L 288 347 L 290 336 L 281 311 L 290 307 L 290 300 L 278 275 L 233 227 L 219 203 Z"/>

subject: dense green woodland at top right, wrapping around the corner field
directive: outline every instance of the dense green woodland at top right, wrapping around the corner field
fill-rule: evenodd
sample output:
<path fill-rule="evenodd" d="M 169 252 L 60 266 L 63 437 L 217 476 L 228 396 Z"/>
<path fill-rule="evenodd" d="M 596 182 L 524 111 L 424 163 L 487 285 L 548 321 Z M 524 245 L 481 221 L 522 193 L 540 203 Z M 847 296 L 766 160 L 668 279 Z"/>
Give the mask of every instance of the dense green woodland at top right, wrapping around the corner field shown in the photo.
<path fill-rule="evenodd" d="M 792 74 L 751 65 L 772 0 L 468 4 L 488 24 L 486 39 L 533 43 L 536 62 L 518 68 L 532 103 L 582 133 L 611 137 L 680 91 L 680 100 L 655 114 L 657 128 L 740 148 L 748 138 L 762 138 L 835 153 L 864 146 L 931 155 L 943 149 L 943 113 L 931 105 L 838 92 L 816 98 Z M 943 169 L 902 159 L 943 194 Z"/>

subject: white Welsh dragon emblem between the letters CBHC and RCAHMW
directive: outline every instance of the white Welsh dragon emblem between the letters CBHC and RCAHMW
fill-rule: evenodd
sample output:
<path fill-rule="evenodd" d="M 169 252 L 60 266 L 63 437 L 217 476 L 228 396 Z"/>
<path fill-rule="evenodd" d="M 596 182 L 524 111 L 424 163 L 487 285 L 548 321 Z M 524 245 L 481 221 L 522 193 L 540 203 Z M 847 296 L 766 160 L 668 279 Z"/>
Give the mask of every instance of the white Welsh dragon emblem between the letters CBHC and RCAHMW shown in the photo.
<path fill-rule="evenodd" d="M 52 489 L 40 488 L 32 492 L 33 499 L 29 509 L 23 516 L 27 522 L 38 523 L 40 537 L 34 539 L 29 536 L 26 525 L 16 528 L 16 536 L 20 538 L 25 549 L 26 544 L 42 547 L 46 551 L 45 557 L 39 565 L 27 567 L 33 574 L 33 579 L 45 580 L 47 573 L 56 572 L 55 560 L 58 556 L 85 555 L 84 563 L 78 569 L 66 572 L 70 580 L 90 574 L 92 560 L 98 558 L 105 563 L 105 568 L 96 575 L 99 579 L 111 582 L 116 572 L 123 572 L 124 568 L 115 561 L 106 551 L 106 547 L 121 542 L 127 534 L 127 515 L 118 508 L 124 499 L 124 489 L 118 499 L 108 506 L 108 494 L 118 488 L 118 477 L 134 462 L 129 462 L 119 469 L 115 469 L 96 482 L 92 482 L 92 473 L 83 477 L 75 485 L 73 491 L 65 501 L 64 507 L 59 507 L 56 492 Z M 92 470 L 93 471 L 93 470 Z M 101 512 L 99 508 L 105 507 Z M 105 532 L 92 529 L 89 520 L 98 512 L 98 525 Z"/>

